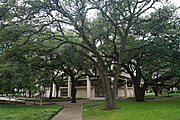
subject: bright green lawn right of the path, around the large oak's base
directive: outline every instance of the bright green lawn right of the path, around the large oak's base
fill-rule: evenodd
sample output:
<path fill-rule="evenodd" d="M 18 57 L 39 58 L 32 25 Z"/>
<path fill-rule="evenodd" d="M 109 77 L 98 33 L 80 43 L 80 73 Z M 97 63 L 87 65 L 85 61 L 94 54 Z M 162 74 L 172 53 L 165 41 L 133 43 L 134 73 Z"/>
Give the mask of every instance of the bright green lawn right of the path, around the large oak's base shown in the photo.
<path fill-rule="evenodd" d="M 92 104 L 92 105 L 91 105 Z M 117 109 L 102 110 L 101 103 L 84 104 L 83 120 L 180 120 L 180 96 L 147 102 L 118 101 Z"/>

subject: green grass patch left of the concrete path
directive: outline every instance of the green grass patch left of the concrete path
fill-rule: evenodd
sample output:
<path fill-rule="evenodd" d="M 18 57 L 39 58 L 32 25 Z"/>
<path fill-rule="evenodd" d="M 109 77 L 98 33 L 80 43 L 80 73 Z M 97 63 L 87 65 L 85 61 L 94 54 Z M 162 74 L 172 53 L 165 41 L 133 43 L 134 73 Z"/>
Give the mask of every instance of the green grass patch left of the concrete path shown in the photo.
<path fill-rule="evenodd" d="M 0 120 L 49 120 L 61 105 L 0 106 Z"/>

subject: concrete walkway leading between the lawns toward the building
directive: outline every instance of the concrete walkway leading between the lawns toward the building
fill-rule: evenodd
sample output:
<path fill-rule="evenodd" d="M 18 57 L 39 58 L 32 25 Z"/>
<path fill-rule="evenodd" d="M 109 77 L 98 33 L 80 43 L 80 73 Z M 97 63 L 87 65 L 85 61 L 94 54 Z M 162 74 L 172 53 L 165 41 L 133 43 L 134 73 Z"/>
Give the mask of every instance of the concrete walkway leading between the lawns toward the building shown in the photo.
<path fill-rule="evenodd" d="M 77 101 L 77 103 L 63 102 L 65 108 L 51 120 L 82 120 L 82 103 L 83 101 Z"/>

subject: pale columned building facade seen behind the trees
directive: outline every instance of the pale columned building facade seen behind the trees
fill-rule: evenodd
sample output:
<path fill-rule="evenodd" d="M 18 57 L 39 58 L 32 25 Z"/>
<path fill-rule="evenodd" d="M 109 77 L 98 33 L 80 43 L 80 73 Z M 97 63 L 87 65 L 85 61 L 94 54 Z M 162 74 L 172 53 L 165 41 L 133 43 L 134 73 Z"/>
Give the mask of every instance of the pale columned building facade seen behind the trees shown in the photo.
<path fill-rule="evenodd" d="M 86 85 L 84 86 L 76 86 L 76 98 L 96 98 L 100 97 L 96 94 L 96 88 L 92 85 L 92 81 L 89 77 L 81 79 L 81 81 L 86 81 Z M 102 88 L 99 88 L 102 89 Z M 45 89 L 45 97 L 49 97 L 50 88 Z M 127 80 L 125 80 L 124 86 L 118 87 L 117 97 L 118 98 L 127 98 L 134 96 L 134 87 L 128 86 Z M 53 84 L 52 97 L 56 97 L 56 86 Z M 60 87 L 58 97 L 71 97 L 71 80 L 67 80 L 67 87 Z M 101 96 L 103 97 L 103 96 Z"/>

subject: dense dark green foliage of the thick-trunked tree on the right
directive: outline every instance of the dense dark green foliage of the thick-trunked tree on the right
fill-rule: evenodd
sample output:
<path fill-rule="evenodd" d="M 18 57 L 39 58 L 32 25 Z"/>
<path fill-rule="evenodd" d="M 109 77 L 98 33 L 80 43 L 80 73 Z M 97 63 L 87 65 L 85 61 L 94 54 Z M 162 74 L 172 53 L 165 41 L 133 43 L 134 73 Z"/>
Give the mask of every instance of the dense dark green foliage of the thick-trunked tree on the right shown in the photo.
<path fill-rule="evenodd" d="M 124 61 L 132 71 L 136 71 L 137 63 L 140 65 L 141 79 L 151 81 L 156 74 L 176 77 L 180 49 L 176 10 L 171 5 L 163 6 L 150 16 L 140 18 L 133 27 L 134 39 L 127 42 Z"/>

